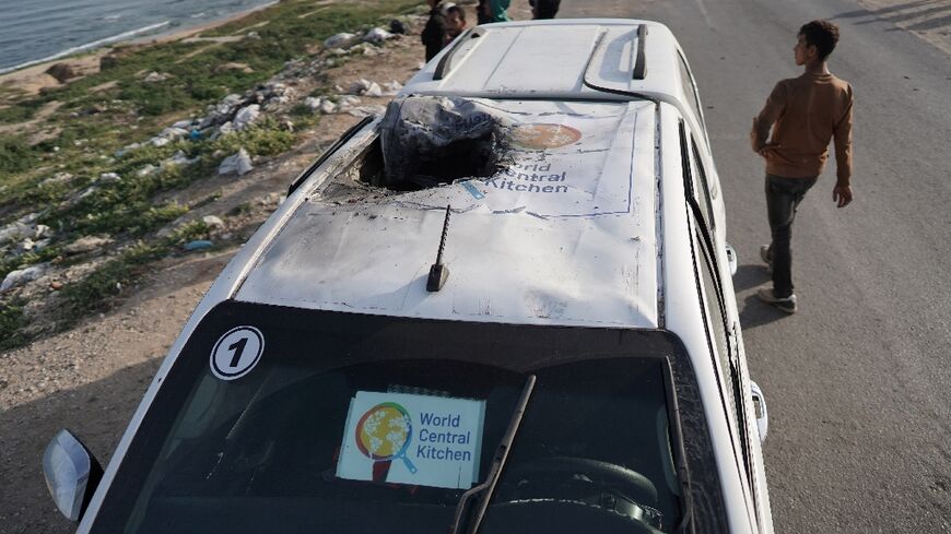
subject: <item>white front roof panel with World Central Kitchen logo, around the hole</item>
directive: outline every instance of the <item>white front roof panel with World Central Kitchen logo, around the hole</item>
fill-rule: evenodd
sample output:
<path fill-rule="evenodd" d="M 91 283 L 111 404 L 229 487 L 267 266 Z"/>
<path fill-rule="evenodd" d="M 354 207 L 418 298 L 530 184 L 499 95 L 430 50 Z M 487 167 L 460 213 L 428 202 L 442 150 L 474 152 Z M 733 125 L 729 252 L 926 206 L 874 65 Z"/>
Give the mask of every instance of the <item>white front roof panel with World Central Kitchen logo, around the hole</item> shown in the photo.
<path fill-rule="evenodd" d="M 234 298 L 434 319 L 656 328 L 655 103 L 482 98 L 441 106 L 506 124 L 510 146 L 495 174 L 410 192 L 356 188 L 349 197 L 334 192 L 347 187 L 345 170 L 310 179 L 289 199 L 293 213 Z M 366 143 L 348 146 L 353 153 Z M 450 274 L 430 293 L 447 205 L 443 262 Z"/>

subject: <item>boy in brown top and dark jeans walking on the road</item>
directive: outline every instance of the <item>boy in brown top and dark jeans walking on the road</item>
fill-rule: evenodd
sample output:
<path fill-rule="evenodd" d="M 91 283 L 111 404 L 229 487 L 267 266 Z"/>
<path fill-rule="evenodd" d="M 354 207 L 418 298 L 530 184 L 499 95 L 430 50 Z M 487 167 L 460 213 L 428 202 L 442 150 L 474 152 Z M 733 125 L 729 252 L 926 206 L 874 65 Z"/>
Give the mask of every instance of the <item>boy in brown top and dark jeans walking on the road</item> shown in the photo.
<path fill-rule="evenodd" d="M 806 192 L 815 183 L 835 144 L 836 180 L 832 200 L 852 202 L 852 85 L 832 75 L 826 60 L 838 43 L 838 26 L 812 21 L 801 28 L 792 49 L 799 78 L 776 84 L 750 132 L 753 151 L 766 161 L 766 213 L 772 242 L 760 257 L 772 268 L 773 287 L 761 287 L 761 300 L 795 313 L 792 293 L 792 221 Z M 772 137 L 770 132 L 772 130 Z M 768 142 L 766 141 L 768 139 Z"/>

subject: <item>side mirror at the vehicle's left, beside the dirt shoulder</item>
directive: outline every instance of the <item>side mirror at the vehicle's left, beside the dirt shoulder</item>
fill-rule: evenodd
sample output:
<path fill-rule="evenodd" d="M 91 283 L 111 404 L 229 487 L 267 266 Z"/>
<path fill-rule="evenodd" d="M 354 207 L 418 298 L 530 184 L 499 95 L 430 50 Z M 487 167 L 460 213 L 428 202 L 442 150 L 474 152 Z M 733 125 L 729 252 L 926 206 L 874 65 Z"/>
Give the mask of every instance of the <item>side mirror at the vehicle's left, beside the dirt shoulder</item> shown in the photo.
<path fill-rule="evenodd" d="M 43 453 L 43 475 L 56 507 L 78 522 L 103 478 L 103 467 L 69 430 L 60 430 Z"/>

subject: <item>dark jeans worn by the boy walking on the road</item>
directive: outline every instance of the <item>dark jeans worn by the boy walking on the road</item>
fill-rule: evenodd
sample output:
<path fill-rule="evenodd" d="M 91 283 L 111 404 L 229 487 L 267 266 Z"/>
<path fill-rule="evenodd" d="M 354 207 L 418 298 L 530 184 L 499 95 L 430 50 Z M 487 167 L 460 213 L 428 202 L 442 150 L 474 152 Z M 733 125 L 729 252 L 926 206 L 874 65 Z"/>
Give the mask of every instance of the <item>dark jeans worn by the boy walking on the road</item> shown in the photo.
<path fill-rule="evenodd" d="M 818 178 L 766 175 L 766 214 L 773 234 L 770 262 L 773 265 L 773 293 L 777 298 L 792 295 L 792 221 L 796 209 Z"/>

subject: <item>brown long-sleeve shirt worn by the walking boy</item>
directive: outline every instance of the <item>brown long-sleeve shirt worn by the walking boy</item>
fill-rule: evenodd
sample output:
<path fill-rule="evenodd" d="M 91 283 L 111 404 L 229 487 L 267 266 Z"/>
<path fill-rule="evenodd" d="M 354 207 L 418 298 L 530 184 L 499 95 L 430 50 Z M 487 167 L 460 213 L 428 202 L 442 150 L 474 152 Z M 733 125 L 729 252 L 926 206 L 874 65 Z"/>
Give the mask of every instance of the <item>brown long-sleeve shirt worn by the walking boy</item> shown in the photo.
<path fill-rule="evenodd" d="M 765 149 L 766 173 L 787 178 L 819 176 L 835 140 L 836 185 L 852 178 L 852 85 L 832 74 L 807 72 L 783 80 L 753 119 L 753 150 Z M 773 135 L 766 143 L 772 127 Z"/>

